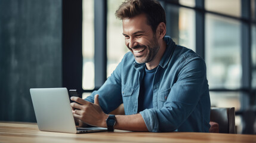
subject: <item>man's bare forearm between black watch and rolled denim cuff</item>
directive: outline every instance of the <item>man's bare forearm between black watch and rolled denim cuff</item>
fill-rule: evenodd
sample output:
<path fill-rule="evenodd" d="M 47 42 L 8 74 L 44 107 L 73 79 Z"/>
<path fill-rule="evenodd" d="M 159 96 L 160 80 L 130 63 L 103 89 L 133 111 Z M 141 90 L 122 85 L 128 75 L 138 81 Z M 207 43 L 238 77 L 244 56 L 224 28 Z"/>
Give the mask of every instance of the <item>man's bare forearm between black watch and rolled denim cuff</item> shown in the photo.
<path fill-rule="evenodd" d="M 141 114 L 134 115 L 116 115 L 115 129 L 132 130 L 132 131 L 146 131 L 147 126 Z"/>

